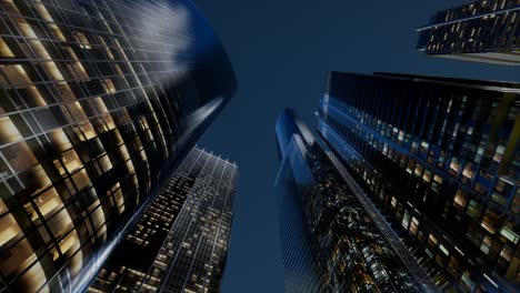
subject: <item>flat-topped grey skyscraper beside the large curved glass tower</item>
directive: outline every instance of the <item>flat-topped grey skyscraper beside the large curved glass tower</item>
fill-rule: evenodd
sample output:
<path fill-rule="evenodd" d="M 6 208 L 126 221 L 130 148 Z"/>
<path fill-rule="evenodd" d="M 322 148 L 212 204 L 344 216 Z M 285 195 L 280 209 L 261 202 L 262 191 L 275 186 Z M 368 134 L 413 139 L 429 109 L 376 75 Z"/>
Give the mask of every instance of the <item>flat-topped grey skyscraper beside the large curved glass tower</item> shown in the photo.
<path fill-rule="evenodd" d="M 89 292 L 219 292 L 238 168 L 193 149 Z"/>

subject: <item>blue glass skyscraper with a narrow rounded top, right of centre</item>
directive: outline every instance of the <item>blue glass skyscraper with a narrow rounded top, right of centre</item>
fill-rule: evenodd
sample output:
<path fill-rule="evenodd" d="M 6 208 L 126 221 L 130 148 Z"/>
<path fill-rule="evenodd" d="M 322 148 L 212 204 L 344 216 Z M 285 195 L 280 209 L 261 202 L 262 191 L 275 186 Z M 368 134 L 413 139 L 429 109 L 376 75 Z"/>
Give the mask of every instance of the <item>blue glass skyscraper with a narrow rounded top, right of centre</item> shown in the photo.
<path fill-rule="evenodd" d="M 287 292 L 437 292 L 334 154 L 289 109 L 277 122 Z"/>

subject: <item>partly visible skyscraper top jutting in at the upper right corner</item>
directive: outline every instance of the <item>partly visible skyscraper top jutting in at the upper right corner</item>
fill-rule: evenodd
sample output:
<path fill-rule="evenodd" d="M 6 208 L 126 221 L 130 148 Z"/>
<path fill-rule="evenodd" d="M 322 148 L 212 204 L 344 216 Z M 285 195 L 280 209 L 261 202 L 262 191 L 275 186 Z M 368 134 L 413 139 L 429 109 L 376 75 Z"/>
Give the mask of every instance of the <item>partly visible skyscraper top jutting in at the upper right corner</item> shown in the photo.
<path fill-rule="evenodd" d="M 520 1 L 478 0 L 439 11 L 419 28 L 429 55 L 520 65 Z"/>

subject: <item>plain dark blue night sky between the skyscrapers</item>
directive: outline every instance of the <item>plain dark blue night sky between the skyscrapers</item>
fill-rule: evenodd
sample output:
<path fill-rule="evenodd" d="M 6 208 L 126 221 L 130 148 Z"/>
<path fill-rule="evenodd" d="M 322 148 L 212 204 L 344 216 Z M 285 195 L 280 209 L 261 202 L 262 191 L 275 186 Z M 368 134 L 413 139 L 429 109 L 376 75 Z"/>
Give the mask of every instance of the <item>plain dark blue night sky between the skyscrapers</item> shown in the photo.
<path fill-rule="evenodd" d="M 223 293 L 283 292 L 274 122 L 283 107 L 292 107 L 313 128 L 327 70 L 493 80 L 514 80 L 520 72 L 414 50 L 414 28 L 464 0 L 193 1 L 220 36 L 238 78 L 237 95 L 199 144 L 240 169 Z"/>

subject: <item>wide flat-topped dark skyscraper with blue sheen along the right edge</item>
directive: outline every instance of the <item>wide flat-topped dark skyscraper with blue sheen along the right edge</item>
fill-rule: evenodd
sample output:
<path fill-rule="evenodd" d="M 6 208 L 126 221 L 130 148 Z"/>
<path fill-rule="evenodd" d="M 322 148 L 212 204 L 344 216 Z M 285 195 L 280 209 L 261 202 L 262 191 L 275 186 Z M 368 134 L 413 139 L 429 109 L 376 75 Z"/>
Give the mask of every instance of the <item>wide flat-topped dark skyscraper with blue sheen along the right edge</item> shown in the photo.
<path fill-rule="evenodd" d="M 319 132 L 443 289 L 518 290 L 520 84 L 330 72 Z"/>

